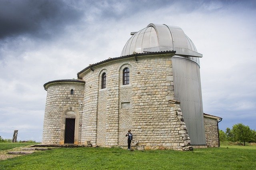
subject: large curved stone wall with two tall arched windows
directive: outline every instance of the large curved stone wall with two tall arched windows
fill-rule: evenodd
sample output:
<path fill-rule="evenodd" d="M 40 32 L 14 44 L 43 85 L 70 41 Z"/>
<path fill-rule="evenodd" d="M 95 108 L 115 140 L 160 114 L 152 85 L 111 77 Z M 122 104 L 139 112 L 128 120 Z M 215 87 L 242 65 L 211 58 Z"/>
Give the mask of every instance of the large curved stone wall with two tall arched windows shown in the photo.
<path fill-rule="evenodd" d="M 130 69 L 129 85 L 122 85 L 125 67 Z M 190 145 L 180 106 L 170 103 L 174 99 L 171 55 L 119 59 L 92 69 L 82 78 L 86 93 L 81 143 L 126 146 L 130 128 L 134 141 L 139 141 L 134 147 L 182 150 Z M 101 89 L 104 72 L 106 88 Z"/>

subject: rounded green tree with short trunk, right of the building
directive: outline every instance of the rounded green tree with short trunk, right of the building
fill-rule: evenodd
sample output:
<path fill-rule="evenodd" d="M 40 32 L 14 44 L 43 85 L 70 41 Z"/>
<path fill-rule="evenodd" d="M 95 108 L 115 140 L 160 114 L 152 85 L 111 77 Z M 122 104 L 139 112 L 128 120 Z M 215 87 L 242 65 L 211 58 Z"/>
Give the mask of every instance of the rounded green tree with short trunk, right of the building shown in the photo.
<path fill-rule="evenodd" d="M 252 138 L 252 130 L 242 123 L 233 125 L 232 134 L 234 135 L 234 141 L 244 142 L 244 146 L 245 142 L 249 142 Z"/>

